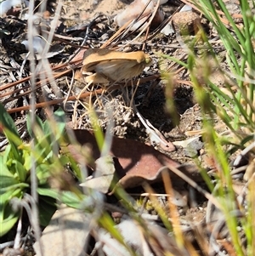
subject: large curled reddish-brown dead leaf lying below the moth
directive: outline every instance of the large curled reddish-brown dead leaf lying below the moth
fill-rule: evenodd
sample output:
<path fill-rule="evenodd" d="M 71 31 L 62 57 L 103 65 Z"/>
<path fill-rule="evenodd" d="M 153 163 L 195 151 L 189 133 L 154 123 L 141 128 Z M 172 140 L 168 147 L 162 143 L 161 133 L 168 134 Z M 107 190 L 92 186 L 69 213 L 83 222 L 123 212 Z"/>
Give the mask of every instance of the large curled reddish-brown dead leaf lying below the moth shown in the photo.
<path fill-rule="evenodd" d="M 98 159 L 100 156 L 99 147 L 96 143 L 94 135 L 87 130 L 73 130 L 73 134 L 82 148 L 87 147 L 91 152 L 91 158 Z M 67 148 L 61 146 L 62 151 L 69 151 L 74 159 L 81 162 L 82 156 L 80 151 L 74 150 L 77 145 L 68 145 Z M 202 180 L 198 174 L 197 168 L 191 165 L 180 165 L 171 158 L 165 156 L 159 151 L 156 151 L 152 146 L 144 145 L 133 139 L 119 139 L 113 137 L 111 145 L 111 155 L 114 157 L 116 175 L 120 179 L 119 184 L 123 188 L 135 187 L 141 185 L 144 181 L 150 183 L 161 180 L 161 171 L 165 168 L 166 163 L 169 166 L 180 169 L 184 174 L 191 179 Z M 84 163 L 93 167 L 92 162 Z M 176 174 L 169 172 L 170 177 L 174 179 L 175 184 L 184 184 L 184 181 Z"/>

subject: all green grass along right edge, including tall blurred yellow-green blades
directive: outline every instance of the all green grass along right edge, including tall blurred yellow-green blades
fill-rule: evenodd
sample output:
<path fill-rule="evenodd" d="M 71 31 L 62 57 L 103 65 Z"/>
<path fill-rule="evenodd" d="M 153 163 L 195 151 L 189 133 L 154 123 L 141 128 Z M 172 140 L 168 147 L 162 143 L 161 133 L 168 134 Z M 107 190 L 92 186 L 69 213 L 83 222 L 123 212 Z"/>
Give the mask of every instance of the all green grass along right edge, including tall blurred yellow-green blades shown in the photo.
<path fill-rule="evenodd" d="M 229 156 L 233 152 L 244 149 L 252 144 L 255 131 L 255 54 L 254 29 L 255 19 L 252 15 L 254 2 L 240 1 L 243 25 L 236 25 L 234 18 L 229 14 L 224 1 L 192 1 L 210 21 L 213 29 L 218 32 L 221 47 L 224 48 L 226 67 L 223 68 L 216 50 L 203 31 L 195 35 L 189 45 L 183 42 L 187 50 L 188 60 L 174 60 L 186 67 L 190 72 L 190 80 L 195 90 L 195 98 L 201 106 L 203 140 L 206 144 L 207 154 L 215 163 L 216 185 L 212 190 L 218 199 L 225 223 L 229 230 L 229 242 L 235 249 L 235 255 L 254 255 L 254 192 L 252 184 L 254 175 L 247 182 L 246 207 L 241 205 L 233 188 L 233 178 Z M 251 6 L 252 5 L 252 6 Z M 218 14 L 220 10 L 228 21 Z M 200 47 L 202 46 L 202 47 Z M 199 53 L 196 54 L 200 48 Z M 167 56 L 164 56 L 167 57 Z M 167 57 L 169 58 L 169 57 Z M 219 88 L 212 81 L 214 71 L 224 77 L 224 86 Z M 225 125 L 225 133 L 219 134 L 215 128 L 215 117 Z M 252 159 L 251 159 L 252 160 Z M 246 235 L 246 247 L 241 242 L 238 225 L 241 225 Z"/>

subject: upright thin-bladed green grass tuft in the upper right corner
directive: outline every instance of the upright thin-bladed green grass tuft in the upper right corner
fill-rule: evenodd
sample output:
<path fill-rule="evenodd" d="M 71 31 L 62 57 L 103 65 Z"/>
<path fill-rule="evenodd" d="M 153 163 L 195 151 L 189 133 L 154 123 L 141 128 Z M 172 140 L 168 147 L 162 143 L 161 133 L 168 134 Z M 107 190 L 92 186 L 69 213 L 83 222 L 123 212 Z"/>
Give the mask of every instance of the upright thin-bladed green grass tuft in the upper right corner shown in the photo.
<path fill-rule="evenodd" d="M 204 65 L 202 71 L 205 91 L 210 94 L 212 101 L 211 109 L 228 126 L 231 134 L 235 136 L 235 142 L 245 146 L 245 141 L 252 139 L 251 134 L 255 130 L 255 54 L 253 48 L 255 20 L 252 15 L 252 7 L 248 1 L 241 1 L 240 8 L 243 26 L 237 26 L 235 20 L 229 14 L 223 1 L 216 1 L 217 5 L 211 1 L 197 1 L 194 3 L 201 13 L 212 23 L 214 29 L 218 31 L 221 43 L 226 53 L 226 63 L 228 71 L 223 70 L 214 54 L 213 46 L 208 42 L 207 37 L 201 31 L 202 40 L 207 45 L 207 54 L 210 54 L 216 61 L 216 67 L 225 77 L 224 90 L 218 88 L 210 81 L 208 65 Z M 229 28 L 220 19 L 215 5 L 224 13 L 229 22 Z M 253 6 L 254 8 L 254 6 Z M 205 57 L 207 57 L 207 54 Z M 197 95 L 202 94 L 199 86 L 201 83 L 195 79 L 195 56 L 190 55 L 190 74 L 197 88 Z M 207 61 L 207 58 L 204 59 Z M 204 62 L 205 64 L 205 62 Z M 209 71 L 210 72 L 210 71 Z M 199 99 L 199 95 L 197 97 Z M 204 105 L 203 100 L 200 101 Z M 205 109 L 205 108 L 204 108 Z"/>

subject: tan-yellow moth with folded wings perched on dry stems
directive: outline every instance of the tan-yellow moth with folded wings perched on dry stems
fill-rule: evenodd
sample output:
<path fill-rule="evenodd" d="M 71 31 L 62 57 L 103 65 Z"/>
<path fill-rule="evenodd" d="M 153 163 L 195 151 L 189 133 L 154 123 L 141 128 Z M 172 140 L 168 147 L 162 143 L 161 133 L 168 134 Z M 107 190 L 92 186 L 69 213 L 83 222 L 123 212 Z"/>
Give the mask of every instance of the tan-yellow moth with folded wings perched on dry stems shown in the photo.
<path fill-rule="evenodd" d="M 107 48 L 89 48 L 83 55 L 85 82 L 109 83 L 139 76 L 151 59 L 143 51 L 122 53 Z"/>

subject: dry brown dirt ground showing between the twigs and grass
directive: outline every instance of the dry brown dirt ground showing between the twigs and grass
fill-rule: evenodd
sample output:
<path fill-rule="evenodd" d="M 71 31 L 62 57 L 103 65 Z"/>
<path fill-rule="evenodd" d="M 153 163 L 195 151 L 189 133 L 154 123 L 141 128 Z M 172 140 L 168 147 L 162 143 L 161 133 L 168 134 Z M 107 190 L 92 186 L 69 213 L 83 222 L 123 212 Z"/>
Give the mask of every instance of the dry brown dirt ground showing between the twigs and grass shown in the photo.
<path fill-rule="evenodd" d="M 45 13 L 46 18 L 49 18 L 54 14 L 57 3 L 48 3 L 49 13 Z M 62 10 L 59 18 L 59 34 L 71 37 L 88 37 L 86 44 L 89 47 L 100 47 L 105 40 L 111 37 L 114 32 L 117 30 L 116 25 L 113 22 L 113 17 L 122 12 L 123 9 L 129 3 L 121 2 L 119 0 L 76 0 L 76 1 L 63 1 Z M 162 9 L 165 12 L 166 16 L 173 14 L 173 11 L 178 8 L 180 3 L 168 1 L 162 5 Z M 98 17 L 97 19 L 95 19 Z M 94 20 L 95 19 L 95 20 Z M 88 28 L 88 24 L 91 25 L 92 20 L 94 20 L 93 25 Z M 6 23 L 8 21 L 8 23 Z M 213 31 L 210 31 L 210 27 L 207 23 L 204 23 L 207 26 L 208 35 L 212 38 L 216 38 L 217 35 Z M 16 63 L 21 65 L 26 54 L 26 49 L 20 44 L 23 31 L 26 30 L 26 22 L 20 19 L 13 17 L 5 17 L 3 20 L 0 20 L 1 28 L 8 29 L 11 31 L 11 35 L 3 35 L 1 55 L 0 55 L 0 74 L 1 81 L 0 87 L 7 84 L 8 82 L 13 82 L 18 79 L 18 75 L 15 74 L 11 68 L 14 68 L 14 65 L 10 63 Z M 133 36 L 119 42 L 119 45 L 125 45 Z M 75 43 L 75 42 L 72 42 Z M 77 49 L 73 45 L 66 45 L 65 43 L 58 43 L 61 48 L 61 52 L 56 54 L 54 57 L 49 59 L 52 63 L 52 66 L 57 65 L 61 61 L 67 60 L 71 54 Z M 133 43 L 131 43 L 126 50 L 140 50 L 142 48 L 141 39 L 138 38 Z M 224 55 L 223 49 L 220 47 L 218 49 L 218 55 Z M 54 50 L 53 50 L 54 51 Z M 135 94 L 133 94 L 132 88 L 120 88 L 111 94 L 105 94 L 100 96 L 98 101 L 95 102 L 96 111 L 99 115 L 99 122 L 102 128 L 106 128 L 107 123 L 109 122 L 109 117 L 106 115 L 107 108 L 113 109 L 113 119 L 115 121 L 114 134 L 121 138 L 128 139 L 137 139 L 144 143 L 150 144 L 149 134 L 146 132 L 146 128 L 140 121 L 139 117 L 136 114 L 136 111 L 133 110 L 130 106 L 129 100 L 133 96 L 134 105 L 136 105 L 139 113 L 144 117 L 144 120 L 148 120 L 151 125 L 156 128 L 161 135 L 167 141 L 183 141 L 184 139 L 189 139 L 187 132 L 189 131 L 199 131 L 201 129 L 201 111 L 200 107 L 195 103 L 195 96 L 193 88 L 189 84 L 189 74 L 187 71 L 179 71 L 179 65 L 173 64 L 171 60 L 165 60 L 162 57 L 159 57 L 160 54 L 167 54 L 174 56 L 180 60 L 185 60 L 186 53 L 184 48 L 180 47 L 178 40 L 173 35 L 164 35 L 158 34 L 156 37 L 151 39 L 145 44 L 144 51 L 150 54 L 152 58 L 152 64 L 149 68 L 146 68 L 142 74 L 142 77 L 148 77 L 152 74 L 159 73 L 160 65 L 159 60 L 164 61 L 164 66 L 173 65 L 173 71 L 178 71 L 176 79 L 182 80 L 185 82 L 177 82 L 173 90 L 173 99 L 176 104 L 176 113 L 178 124 L 173 123 L 173 115 L 167 112 L 166 107 L 166 82 L 161 82 L 160 80 L 151 80 L 149 82 L 144 82 L 140 84 L 137 88 Z M 224 65 L 224 64 L 223 64 Z M 28 70 L 28 65 L 25 65 L 25 71 Z M 9 71 L 9 72 L 8 72 Z M 10 76 L 11 74 L 11 76 Z M 14 76 L 14 77 L 12 77 Z M 215 82 L 218 83 L 218 86 L 221 86 L 221 79 L 217 73 L 214 76 Z M 71 75 L 68 75 L 66 78 L 61 77 L 57 79 L 57 83 L 62 94 L 66 95 L 68 87 L 66 82 L 71 82 Z M 74 83 L 74 90 L 79 92 L 83 88 L 80 82 Z M 10 89 L 6 89 L 4 92 L 8 92 Z M 37 93 L 39 95 L 41 92 Z M 11 96 L 12 97 L 12 96 Z M 22 100 L 10 100 L 9 96 L 6 96 L 1 99 L 8 100 L 8 108 L 13 108 L 15 106 L 20 106 Z M 95 97 L 92 99 L 95 100 Z M 86 105 L 86 100 L 85 103 Z M 43 111 L 38 110 L 37 114 L 43 118 Z M 72 128 L 91 128 L 90 123 L 88 122 L 88 115 L 84 111 L 82 105 L 77 106 L 77 122 L 74 122 L 71 113 L 66 113 L 66 116 L 69 118 L 69 127 Z M 23 113 L 14 113 L 12 114 L 14 121 L 21 128 L 25 122 L 25 116 Z M 82 117 L 82 118 L 80 118 Z M 224 127 L 219 126 L 222 130 L 219 129 L 219 132 L 224 130 Z M 3 138 L 2 138 L 3 140 Z M 199 157 L 204 168 L 209 170 L 213 169 L 213 162 L 207 158 L 207 154 L 203 148 L 201 140 L 195 142 L 195 145 L 192 145 L 193 150 Z M 190 151 L 185 149 L 182 146 L 176 145 L 175 151 L 167 151 L 166 148 L 161 146 L 156 146 L 156 148 L 168 156 L 171 156 L 173 160 L 181 163 L 192 163 L 193 159 L 190 156 Z M 193 153 L 194 153 L 193 151 Z M 206 185 L 201 182 L 202 187 L 206 188 Z M 161 185 L 155 187 L 159 192 L 161 190 Z M 185 188 L 183 191 L 178 191 L 178 193 L 187 195 L 190 188 Z M 139 191 L 140 192 L 140 191 Z M 194 221 L 195 223 L 202 223 L 206 218 L 207 212 L 207 201 L 203 196 L 199 194 L 195 195 L 195 198 L 191 198 L 187 208 L 179 208 L 179 213 L 183 215 L 182 218 L 187 221 Z M 188 235 L 187 235 L 188 236 Z M 192 241 L 194 238 L 190 238 Z"/>

